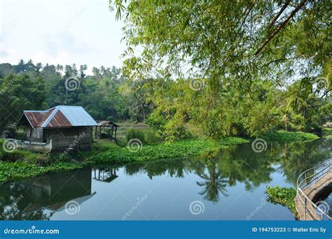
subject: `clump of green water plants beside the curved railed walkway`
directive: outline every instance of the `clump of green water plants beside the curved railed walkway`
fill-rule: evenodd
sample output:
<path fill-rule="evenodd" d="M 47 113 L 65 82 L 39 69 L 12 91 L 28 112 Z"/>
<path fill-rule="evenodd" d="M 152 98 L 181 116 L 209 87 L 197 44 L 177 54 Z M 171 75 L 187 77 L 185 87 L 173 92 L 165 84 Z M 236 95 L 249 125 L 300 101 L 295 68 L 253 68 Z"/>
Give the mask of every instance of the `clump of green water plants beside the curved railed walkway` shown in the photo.
<path fill-rule="evenodd" d="M 296 189 L 292 187 L 266 187 L 266 194 L 268 194 L 268 201 L 275 204 L 283 205 L 297 217 L 294 198 L 296 197 Z"/>

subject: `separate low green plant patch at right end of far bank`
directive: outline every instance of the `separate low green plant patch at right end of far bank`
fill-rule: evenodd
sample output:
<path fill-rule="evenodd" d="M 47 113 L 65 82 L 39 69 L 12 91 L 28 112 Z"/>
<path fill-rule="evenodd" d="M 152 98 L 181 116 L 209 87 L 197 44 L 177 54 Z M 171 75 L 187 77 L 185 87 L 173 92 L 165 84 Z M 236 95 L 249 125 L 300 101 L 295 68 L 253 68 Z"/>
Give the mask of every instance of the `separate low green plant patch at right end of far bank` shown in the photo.
<path fill-rule="evenodd" d="M 278 141 L 278 142 L 291 142 L 291 141 L 309 142 L 312 140 L 317 140 L 319 137 L 313 133 L 291 132 L 291 131 L 280 130 L 272 133 L 267 133 L 265 134 L 265 136 L 262 136 L 261 138 L 267 141 Z"/>

